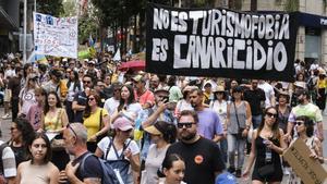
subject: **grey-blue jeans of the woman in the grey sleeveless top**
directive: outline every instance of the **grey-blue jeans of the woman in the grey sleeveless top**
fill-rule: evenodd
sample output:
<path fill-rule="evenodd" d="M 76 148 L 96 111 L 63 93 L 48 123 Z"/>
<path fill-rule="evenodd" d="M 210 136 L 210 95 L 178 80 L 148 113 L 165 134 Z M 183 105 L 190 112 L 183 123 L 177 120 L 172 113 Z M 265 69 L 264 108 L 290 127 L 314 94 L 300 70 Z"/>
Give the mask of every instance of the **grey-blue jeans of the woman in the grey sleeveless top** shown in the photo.
<path fill-rule="evenodd" d="M 245 156 L 244 149 L 245 149 L 246 138 L 238 139 L 235 135 L 228 134 L 227 142 L 228 142 L 229 165 L 231 168 L 242 169 L 243 163 L 244 163 L 244 156 Z M 235 151 L 238 151 L 238 165 L 237 167 L 235 167 Z"/>

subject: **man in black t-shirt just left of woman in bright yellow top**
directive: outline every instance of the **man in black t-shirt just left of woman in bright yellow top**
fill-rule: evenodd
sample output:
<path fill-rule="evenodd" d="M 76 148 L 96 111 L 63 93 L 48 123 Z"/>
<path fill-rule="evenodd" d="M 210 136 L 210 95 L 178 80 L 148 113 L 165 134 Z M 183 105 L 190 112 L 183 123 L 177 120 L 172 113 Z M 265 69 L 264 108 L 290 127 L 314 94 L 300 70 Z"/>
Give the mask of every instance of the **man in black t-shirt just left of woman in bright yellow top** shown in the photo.
<path fill-rule="evenodd" d="M 83 88 L 80 93 L 75 94 L 74 100 L 72 103 L 72 109 L 75 111 L 74 121 L 73 122 L 83 122 L 83 113 L 87 105 L 87 96 L 89 95 L 89 90 L 93 88 L 92 76 L 84 75 L 83 76 Z"/>

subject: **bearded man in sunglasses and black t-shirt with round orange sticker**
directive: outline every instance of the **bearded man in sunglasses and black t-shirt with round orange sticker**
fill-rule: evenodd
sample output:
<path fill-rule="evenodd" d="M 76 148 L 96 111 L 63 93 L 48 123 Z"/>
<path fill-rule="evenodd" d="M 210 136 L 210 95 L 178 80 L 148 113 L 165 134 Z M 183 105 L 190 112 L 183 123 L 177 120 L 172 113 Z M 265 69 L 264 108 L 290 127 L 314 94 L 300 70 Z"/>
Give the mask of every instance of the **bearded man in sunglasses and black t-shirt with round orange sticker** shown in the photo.
<path fill-rule="evenodd" d="M 184 182 L 187 184 L 213 184 L 215 177 L 225 170 L 218 145 L 197 134 L 197 113 L 184 110 L 178 121 L 180 142 L 172 144 L 166 157 L 180 155 L 185 161 Z"/>

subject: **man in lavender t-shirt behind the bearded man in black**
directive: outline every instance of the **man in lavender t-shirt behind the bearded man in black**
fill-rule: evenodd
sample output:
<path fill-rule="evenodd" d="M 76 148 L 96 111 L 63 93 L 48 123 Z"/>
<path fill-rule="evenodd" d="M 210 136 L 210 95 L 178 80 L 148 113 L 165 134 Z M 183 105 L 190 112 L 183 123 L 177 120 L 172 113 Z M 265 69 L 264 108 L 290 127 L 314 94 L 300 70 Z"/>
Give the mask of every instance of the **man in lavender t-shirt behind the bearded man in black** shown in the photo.
<path fill-rule="evenodd" d="M 190 91 L 190 102 L 198 115 L 197 132 L 201 136 L 218 143 L 222 138 L 222 125 L 218 114 L 203 103 L 204 94 L 194 88 Z"/>

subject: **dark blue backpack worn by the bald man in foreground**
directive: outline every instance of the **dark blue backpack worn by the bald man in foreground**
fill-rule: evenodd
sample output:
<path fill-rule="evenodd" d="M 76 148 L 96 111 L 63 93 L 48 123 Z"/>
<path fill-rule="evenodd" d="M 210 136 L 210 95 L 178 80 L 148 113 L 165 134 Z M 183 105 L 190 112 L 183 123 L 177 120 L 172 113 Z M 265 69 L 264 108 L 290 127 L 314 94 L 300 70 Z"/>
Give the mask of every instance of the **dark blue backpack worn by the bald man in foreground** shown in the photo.
<path fill-rule="evenodd" d="M 84 163 L 86 158 L 93 156 L 93 154 L 88 152 L 82 160 L 81 163 L 81 172 L 84 172 Z M 108 164 L 107 160 L 98 159 L 100 161 L 102 168 L 102 179 L 101 184 L 122 184 L 118 181 L 116 173 L 110 164 Z"/>

